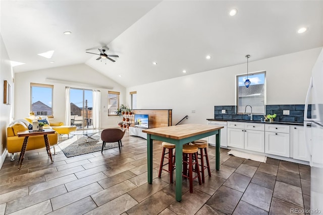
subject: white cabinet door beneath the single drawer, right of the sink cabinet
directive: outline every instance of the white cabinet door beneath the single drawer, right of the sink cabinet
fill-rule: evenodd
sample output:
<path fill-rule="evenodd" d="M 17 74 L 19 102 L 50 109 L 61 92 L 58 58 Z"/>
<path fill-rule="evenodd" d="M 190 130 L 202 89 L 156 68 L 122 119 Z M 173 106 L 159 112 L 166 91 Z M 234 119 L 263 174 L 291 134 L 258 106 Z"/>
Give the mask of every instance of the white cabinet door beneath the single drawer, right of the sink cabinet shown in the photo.
<path fill-rule="evenodd" d="M 264 152 L 289 157 L 289 133 L 265 132 Z"/>

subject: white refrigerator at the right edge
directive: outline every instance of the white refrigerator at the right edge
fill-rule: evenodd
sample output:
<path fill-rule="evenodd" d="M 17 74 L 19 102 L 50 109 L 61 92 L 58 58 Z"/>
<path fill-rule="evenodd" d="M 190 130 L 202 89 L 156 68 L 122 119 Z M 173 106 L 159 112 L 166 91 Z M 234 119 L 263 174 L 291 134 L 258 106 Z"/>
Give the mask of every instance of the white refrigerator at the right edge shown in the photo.
<path fill-rule="evenodd" d="M 308 104 L 311 104 L 311 118 L 307 118 Z M 323 213 L 323 49 L 312 69 L 305 100 L 304 131 L 311 155 L 310 213 Z"/>

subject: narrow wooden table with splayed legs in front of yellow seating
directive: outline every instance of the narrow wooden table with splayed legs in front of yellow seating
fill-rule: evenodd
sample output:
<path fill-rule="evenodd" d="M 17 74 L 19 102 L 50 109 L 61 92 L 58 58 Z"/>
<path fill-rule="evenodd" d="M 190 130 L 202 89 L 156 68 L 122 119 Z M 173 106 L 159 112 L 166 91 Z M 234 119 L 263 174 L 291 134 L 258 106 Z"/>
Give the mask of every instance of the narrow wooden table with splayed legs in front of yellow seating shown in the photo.
<path fill-rule="evenodd" d="M 17 162 L 17 164 L 19 164 L 19 162 L 20 162 L 20 166 L 19 166 L 18 170 L 21 169 L 21 165 L 22 165 L 22 162 L 23 162 L 24 157 L 25 157 L 25 152 L 26 152 L 26 148 L 27 148 L 27 144 L 28 144 L 28 137 L 29 136 L 44 135 L 45 147 L 46 147 L 46 150 L 47 150 L 47 155 L 48 155 L 48 157 L 50 157 L 51 163 L 53 163 L 53 160 L 52 160 L 52 157 L 51 157 L 51 152 L 50 152 L 48 136 L 47 136 L 47 134 L 52 134 L 52 133 L 55 133 L 55 130 L 53 130 L 53 129 L 44 129 L 44 131 L 35 131 L 35 132 L 29 132 L 29 130 L 18 131 L 18 133 L 17 133 L 18 137 L 21 137 L 21 136 L 25 137 L 24 142 L 22 144 L 19 160 Z"/>

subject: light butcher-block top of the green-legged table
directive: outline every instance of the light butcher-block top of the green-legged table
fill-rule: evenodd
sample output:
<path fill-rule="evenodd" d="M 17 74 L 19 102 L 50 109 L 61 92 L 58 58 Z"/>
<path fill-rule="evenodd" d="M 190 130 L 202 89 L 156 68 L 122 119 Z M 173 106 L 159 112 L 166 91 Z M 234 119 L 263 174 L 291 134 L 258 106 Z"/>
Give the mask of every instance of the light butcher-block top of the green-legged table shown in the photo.
<path fill-rule="evenodd" d="M 184 139 L 186 137 L 195 136 L 209 131 L 219 130 L 224 126 L 204 125 L 204 124 L 184 124 L 173 125 L 167 127 L 143 129 L 142 132 L 164 136 L 172 139 Z"/>

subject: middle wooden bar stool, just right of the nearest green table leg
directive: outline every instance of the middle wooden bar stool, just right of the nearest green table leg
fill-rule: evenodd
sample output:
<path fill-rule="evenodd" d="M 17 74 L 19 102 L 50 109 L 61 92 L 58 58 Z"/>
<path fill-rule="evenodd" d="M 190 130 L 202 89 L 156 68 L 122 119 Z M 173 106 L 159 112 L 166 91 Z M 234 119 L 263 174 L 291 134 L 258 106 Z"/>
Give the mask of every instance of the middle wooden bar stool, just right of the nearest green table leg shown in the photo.
<path fill-rule="evenodd" d="M 188 178 L 190 181 L 190 193 L 193 192 L 193 181 L 198 178 L 198 184 L 201 185 L 201 175 L 199 170 L 198 158 L 197 158 L 198 148 L 196 146 L 183 145 L 183 174 L 182 176 Z M 193 162 L 194 160 L 194 162 Z M 197 175 L 193 178 L 193 165 L 195 168 L 194 172 Z M 187 169 L 188 166 L 188 169 Z M 187 173 L 188 170 L 188 173 Z"/>

